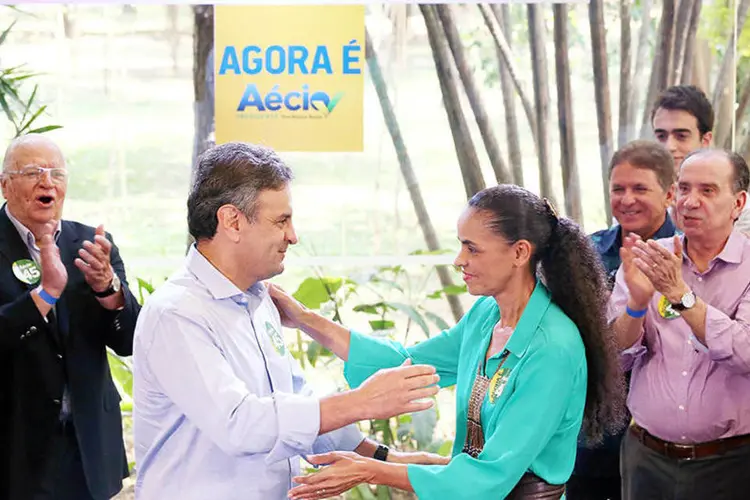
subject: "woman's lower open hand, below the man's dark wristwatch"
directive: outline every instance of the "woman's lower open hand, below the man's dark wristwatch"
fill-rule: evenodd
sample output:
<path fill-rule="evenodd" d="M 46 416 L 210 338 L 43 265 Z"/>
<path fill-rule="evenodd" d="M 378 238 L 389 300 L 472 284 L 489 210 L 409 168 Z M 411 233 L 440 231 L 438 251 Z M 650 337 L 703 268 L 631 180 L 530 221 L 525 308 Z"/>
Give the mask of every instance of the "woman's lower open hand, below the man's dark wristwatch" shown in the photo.
<path fill-rule="evenodd" d="M 320 471 L 307 476 L 297 476 L 295 486 L 289 490 L 289 498 L 308 500 L 330 498 L 348 491 L 358 484 L 375 483 L 376 471 L 382 462 L 365 458 L 351 451 L 334 451 L 311 455 L 307 461 L 313 465 L 326 465 Z"/>

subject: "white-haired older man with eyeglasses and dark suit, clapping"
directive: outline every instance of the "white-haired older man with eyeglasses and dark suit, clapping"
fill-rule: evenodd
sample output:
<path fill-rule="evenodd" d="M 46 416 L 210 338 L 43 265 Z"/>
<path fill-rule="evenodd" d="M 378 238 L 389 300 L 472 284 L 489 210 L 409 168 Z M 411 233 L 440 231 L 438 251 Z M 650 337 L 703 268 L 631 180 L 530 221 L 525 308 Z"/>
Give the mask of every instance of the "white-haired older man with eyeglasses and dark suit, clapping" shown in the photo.
<path fill-rule="evenodd" d="M 111 498 L 128 467 L 106 349 L 132 353 L 140 306 L 103 226 L 62 220 L 54 142 L 14 140 L 0 183 L 0 498 Z"/>

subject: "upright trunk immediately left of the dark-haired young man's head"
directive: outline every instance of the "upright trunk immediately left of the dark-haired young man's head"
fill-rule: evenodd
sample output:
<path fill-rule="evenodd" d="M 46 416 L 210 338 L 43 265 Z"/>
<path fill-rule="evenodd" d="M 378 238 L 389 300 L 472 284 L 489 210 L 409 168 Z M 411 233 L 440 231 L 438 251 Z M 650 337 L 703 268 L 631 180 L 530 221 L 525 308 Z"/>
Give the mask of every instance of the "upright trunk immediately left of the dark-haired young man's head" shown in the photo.
<path fill-rule="evenodd" d="M 651 77 L 646 93 L 646 104 L 643 106 L 643 119 L 641 121 L 641 137 L 652 137 L 651 132 L 651 107 L 656 96 L 667 88 L 669 81 L 669 63 L 672 60 L 672 45 L 674 34 L 674 2 L 675 0 L 664 0 L 659 22 L 659 33 L 657 35 L 656 51 L 651 63 Z"/>

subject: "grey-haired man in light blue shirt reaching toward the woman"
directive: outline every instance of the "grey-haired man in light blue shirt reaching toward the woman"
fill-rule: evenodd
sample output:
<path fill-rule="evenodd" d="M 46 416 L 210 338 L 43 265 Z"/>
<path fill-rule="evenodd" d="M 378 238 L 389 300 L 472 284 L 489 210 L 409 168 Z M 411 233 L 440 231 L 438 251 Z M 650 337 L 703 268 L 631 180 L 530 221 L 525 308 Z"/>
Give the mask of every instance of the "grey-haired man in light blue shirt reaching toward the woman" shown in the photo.
<path fill-rule="evenodd" d="M 259 146 L 224 144 L 198 160 L 188 197 L 196 244 L 136 327 L 139 499 L 280 500 L 299 475 L 300 456 L 375 455 L 377 444 L 354 422 L 432 405 L 416 401 L 437 392 L 427 366 L 385 370 L 323 398 L 305 384 L 262 283 L 283 271 L 297 242 L 291 179 Z"/>

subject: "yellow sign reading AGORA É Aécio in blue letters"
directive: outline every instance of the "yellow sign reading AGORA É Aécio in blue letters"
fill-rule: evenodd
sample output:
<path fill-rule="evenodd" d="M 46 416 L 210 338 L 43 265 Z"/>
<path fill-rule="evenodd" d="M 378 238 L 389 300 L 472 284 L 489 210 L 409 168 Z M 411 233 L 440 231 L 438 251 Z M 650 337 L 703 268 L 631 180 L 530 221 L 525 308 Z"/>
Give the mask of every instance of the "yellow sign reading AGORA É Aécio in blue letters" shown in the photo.
<path fill-rule="evenodd" d="M 364 5 L 217 5 L 216 143 L 363 150 Z"/>

